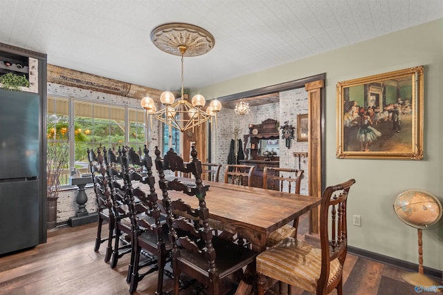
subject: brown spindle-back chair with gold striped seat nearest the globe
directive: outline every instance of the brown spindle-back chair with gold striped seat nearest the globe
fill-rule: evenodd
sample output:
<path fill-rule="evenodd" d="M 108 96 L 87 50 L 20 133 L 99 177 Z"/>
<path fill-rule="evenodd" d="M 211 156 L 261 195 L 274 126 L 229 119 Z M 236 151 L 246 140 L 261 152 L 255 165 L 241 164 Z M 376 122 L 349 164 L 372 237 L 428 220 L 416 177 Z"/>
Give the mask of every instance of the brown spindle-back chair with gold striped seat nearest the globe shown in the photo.
<path fill-rule="evenodd" d="M 347 254 L 346 204 L 354 179 L 327 187 L 320 203 L 320 247 L 296 237 L 285 238 L 256 258 L 257 294 L 264 295 L 271 279 L 316 294 L 334 289 L 343 294 L 343 265 Z M 329 224 L 330 220 L 330 224 Z"/>

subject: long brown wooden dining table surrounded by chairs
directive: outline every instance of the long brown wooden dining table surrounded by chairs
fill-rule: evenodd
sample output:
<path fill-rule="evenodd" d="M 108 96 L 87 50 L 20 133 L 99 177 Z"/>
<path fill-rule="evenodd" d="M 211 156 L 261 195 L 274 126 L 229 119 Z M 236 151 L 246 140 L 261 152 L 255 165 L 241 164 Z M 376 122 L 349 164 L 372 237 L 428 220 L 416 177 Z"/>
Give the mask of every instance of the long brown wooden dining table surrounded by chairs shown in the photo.
<path fill-rule="evenodd" d="M 192 179 L 183 178 L 190 183 Z M 223 182 L 210 182 L 206 192 L 206 205 L 209 209 L 211 226 L 230 234 L 238 234 L 251 242 L 255 251 L 266 249 L 266 240 L 275 231 L 317 207 L 321 199 L 295 193 L 284 193 L 257 187 L 243 187 Z M 198 207 L 195 196 L 181 191 L 168 191 L 171 200 L 182 199 Z M 235 294 L 250 294 L 251 285 L 240 282 Z"/>

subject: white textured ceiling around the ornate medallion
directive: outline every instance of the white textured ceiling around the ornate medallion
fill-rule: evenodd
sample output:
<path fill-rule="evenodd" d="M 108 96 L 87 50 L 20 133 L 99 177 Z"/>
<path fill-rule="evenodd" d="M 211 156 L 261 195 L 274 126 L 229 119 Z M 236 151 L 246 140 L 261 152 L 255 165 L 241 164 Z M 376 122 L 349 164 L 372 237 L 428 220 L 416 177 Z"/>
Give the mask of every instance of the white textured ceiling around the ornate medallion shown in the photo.
<path fill-rule="evenodd" d="M 1 0 L 0 42 L 48 63 L 161 90 L 180 86 L 180 57 L 150 41 L 156 26 L 192 23 L 215 37 L 184 59 L 199 88 L 443 17 L 442 0 Z"/>

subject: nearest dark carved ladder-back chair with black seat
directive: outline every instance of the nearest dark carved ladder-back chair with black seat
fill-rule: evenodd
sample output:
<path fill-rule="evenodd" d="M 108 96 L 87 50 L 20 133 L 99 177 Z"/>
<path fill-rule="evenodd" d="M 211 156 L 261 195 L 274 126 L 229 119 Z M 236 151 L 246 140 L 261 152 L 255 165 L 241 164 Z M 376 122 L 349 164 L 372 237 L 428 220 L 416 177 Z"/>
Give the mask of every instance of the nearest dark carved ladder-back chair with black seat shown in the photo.
<path fill-rule="evenodd" d="M 242 268 L 253 265 L 257 252 L 237 245 L 230 240 L 213 236 L 213 229 L 209 226 L 209 209 L 206 206 L 206 192 L 208 186 L 201 182 L 201 162 L 197 158 L 195 146 L 191 150 L 192 161 L 183 165 L 183 160 L 174 153 L 165 155 L 169 169 L 179 169 L 192 173 L 195 186 L 174 179 L 164 183 L 166 190 L 183 191 L 188 196 L 196 196 L 199 207 L 192 207 L 182 200 L 173 200 L 170 204 L 176 215 L 168 215 L 170 225 L 170 240 L 172 241 L 172 269 L 174 273 L 174 295 L 180 291 L 181 274 L 197 279 L 204 284 L 208 294 L 218 295 L 220 280 L 230 274 L 242 272 Z M 183 214 L 182 214 L 183 213 Z M 196 227 L 194 220 L 199 225 Z M 179 236 L 180 231 L 183 236 Z"/>

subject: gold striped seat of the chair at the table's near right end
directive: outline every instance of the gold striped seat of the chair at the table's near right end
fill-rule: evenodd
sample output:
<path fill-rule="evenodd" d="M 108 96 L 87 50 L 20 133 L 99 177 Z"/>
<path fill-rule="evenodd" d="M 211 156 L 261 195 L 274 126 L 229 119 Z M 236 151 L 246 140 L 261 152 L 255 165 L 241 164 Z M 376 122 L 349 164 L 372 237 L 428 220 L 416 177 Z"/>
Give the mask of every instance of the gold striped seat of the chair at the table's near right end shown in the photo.
<path fill-rule="evenodd" d="M 256 263 L 258 273 L 316 293 L 321 267 L 320 248 L 296 238 L 285 238 L 259 254 Z M 342 270 L 343 265 L 338 259 L 331 261 L 328 285 Z"/>

